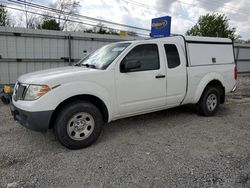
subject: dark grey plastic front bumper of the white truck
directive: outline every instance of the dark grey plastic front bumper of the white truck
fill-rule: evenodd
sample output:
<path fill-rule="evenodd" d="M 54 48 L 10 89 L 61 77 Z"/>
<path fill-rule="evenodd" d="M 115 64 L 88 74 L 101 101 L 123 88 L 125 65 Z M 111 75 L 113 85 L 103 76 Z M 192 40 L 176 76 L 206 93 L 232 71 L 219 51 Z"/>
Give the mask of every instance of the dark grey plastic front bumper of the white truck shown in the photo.
<path fill-rule="evenodd" d="M 21 125 L 34 131 L 45 132 L 49 129 L 52 111 L 28 112 L 17 108 L 13 103 L 10 104 L 10 111 Z"/>

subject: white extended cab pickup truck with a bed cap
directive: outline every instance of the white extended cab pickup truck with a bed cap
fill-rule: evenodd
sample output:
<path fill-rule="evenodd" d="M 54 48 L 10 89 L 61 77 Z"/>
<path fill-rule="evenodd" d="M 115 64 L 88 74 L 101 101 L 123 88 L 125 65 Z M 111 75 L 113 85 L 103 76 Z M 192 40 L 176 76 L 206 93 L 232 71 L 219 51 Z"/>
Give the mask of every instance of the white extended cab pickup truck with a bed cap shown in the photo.
<path fill-rule="evenodd" d="M 104 46 L 75 66 L 29 73 L 14 88 L 11 111 L 23 126 L 54 128 L 64 146 L 89 146 L 103 124 L 183 104 L 212 116 L 235 89 L 229 39 L 167 37 Z"/>

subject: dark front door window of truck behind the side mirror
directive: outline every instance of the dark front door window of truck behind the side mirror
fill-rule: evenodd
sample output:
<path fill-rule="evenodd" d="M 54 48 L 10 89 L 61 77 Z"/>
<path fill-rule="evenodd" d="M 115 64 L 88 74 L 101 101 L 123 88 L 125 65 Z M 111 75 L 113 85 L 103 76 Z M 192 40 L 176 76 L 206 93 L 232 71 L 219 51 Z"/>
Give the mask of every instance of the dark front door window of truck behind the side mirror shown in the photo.
<path fill-rule="evenodd" d="M 128 60 L 138 60 L 141 67 L 135 71 L 147 71 L 160 68 L 158 46 L 156 44 L 142 44 L 134 47 L 123 59 L 122 64 Z"/>

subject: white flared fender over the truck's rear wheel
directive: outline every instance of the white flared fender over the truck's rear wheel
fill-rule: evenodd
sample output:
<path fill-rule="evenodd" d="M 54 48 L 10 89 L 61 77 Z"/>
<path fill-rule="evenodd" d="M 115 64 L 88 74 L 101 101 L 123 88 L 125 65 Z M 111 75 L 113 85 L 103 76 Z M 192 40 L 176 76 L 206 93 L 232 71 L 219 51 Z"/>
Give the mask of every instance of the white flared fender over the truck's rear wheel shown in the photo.
<path fill-rule="evenodd" d="M 205 87 L 208 85 L 209 82 L 213 81 L 213 80 L 218 80 L 221 82 L 222 85 L 224 85 L 224 78 L 216 73 L 216 72 L 212 72 L 212 73 L 208 73 L 206 74 L 202 79 L 201 81 L 199 82 L 198 86 L 196 87 L 196 91 L 194 93 L 194 103 L 197 103 L 200 98 L 201 98 L 201 95 L 205 89 Z"/>

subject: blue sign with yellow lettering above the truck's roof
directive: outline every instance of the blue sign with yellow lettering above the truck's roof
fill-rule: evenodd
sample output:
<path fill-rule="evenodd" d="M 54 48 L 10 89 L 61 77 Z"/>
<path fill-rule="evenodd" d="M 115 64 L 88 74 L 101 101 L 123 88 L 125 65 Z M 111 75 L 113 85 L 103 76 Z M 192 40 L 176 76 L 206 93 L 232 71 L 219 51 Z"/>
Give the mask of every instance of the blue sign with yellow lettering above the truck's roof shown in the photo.
<path fill-rule="evenodd" d="M 152 19 L 151 23 L 151 37 L 168 37 L 171 30 L 171 17 L 164 16 Z"/>

